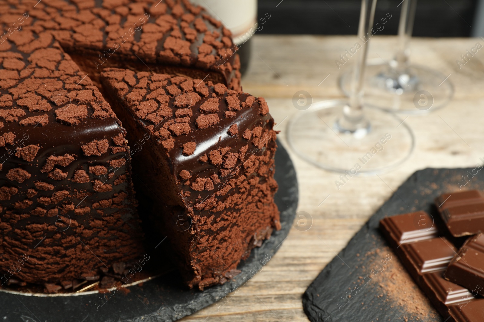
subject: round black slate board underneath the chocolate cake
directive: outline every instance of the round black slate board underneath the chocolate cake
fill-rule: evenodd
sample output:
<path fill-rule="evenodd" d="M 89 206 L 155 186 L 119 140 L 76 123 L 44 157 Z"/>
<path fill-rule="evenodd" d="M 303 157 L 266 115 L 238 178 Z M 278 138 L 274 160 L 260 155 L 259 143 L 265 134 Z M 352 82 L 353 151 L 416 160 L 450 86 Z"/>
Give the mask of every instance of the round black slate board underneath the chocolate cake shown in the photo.
<path fill-rule="evenodd" d="M 253 276 L 272 258 L 287 237 L 298 204 L 298 184 L 292 161 L 278 142 L 275 180 L 279 190 L 275 203 L 281 211 L 282 228 L 237 267 L 242 271 L 224 285 L 203 292 L 181 285 L 176 272 L 118 291 L 102 307 L 101 294 L 39 297 L 0 292 L 0 321 L 24 322 L 171 322 L 220 300 Z M 96 309 L 98 307 L 98 309 Z M 83 320 L 84 319 L 84 320 Z"/>

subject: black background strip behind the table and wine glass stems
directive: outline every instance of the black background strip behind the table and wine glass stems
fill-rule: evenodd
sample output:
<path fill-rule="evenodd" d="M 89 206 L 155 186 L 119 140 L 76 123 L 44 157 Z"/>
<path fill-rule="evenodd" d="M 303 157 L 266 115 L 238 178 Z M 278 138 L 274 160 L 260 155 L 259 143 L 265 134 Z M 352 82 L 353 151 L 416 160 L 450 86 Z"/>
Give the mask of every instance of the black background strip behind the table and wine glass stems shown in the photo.
<path fill-rule="evenodd" d="M 397 33 L 400 1 L 378 0 L 375 23 L 392 14 L 378 34 Z M 469 37 L 476 5 L 477 0 L 418 0 L 413 36 Z M 361 0 L 258 0 L 258 18 L 271 18 L 257 33 L 354 35 L 360 6 Z"/>

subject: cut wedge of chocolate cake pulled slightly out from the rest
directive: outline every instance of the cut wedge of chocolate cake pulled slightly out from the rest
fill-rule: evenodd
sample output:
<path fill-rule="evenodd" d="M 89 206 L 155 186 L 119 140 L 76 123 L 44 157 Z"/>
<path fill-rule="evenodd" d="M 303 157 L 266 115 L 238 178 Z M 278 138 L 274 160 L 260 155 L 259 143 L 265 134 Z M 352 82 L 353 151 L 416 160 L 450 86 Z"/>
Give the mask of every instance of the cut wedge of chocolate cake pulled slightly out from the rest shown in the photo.
<path fill-rule="evenodd" d="M 124 69 L 101 75 L 106 99 L 138 142 L 138 195 L 172 244 L 186 283 L 204 287 L 280 229 L 274 204 L 276 132 L 264 98 L 201 79 Z"/>

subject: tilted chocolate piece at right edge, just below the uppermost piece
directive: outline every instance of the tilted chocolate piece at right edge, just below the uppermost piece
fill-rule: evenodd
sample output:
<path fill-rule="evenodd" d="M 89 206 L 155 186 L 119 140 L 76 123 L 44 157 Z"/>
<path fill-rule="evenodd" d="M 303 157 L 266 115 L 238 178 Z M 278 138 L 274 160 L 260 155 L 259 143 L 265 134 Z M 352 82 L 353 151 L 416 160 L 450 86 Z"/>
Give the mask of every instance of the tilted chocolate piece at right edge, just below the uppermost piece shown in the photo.
<path fill-rule="evenodd" d="M 484 295 L 484 234 L 478 234 L 466 241 L 449 264 L 444 276 L 473 293 Z"/>

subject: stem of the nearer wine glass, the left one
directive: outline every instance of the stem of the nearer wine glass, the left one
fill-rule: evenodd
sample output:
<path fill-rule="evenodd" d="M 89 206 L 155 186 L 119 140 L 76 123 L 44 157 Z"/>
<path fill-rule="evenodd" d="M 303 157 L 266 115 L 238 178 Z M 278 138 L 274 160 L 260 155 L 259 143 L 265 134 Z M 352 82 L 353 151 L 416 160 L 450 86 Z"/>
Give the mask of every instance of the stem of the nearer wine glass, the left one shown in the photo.
<path fill-rule="evenodd" d="M 374 35 L 373 20 L 377 0 L 362 0 L 360 24 L 358 27 L 358 42 L 361 47 L 356 55 L 350 83 L 349 104 L 343 109 L 343 117 L 337 122 L 337 127 L 343 131 L 355 132 L 361 128 L 369 128 L 369 123 L 363 114 L 363 79 L 366 66 L 366 56 L 370 38 Z"/>

